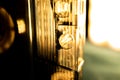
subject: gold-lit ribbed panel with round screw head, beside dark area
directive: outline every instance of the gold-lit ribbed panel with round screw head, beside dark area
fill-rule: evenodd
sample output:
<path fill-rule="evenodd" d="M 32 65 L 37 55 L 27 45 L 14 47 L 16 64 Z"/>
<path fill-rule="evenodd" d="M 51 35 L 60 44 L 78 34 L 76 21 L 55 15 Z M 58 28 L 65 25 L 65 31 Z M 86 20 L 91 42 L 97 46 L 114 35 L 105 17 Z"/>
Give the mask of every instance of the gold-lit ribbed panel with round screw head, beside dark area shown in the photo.
<path fill-rule="evenodd" d="M 81 71 L 86 0 L 35 0 L 38 56 Z"/>

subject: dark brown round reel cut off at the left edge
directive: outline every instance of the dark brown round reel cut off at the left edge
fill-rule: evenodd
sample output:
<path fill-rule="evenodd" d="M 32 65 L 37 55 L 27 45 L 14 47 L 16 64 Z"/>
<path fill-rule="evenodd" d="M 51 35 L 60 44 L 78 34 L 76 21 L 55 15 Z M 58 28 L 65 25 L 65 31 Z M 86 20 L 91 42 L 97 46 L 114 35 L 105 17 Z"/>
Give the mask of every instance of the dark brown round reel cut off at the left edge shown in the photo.
<path fill-rule="evenodd" d="M 10 48 L 14 42 L 14 23 L 10 14 L 0 7 L 0 54 Z"/>

